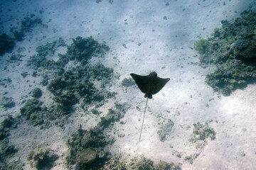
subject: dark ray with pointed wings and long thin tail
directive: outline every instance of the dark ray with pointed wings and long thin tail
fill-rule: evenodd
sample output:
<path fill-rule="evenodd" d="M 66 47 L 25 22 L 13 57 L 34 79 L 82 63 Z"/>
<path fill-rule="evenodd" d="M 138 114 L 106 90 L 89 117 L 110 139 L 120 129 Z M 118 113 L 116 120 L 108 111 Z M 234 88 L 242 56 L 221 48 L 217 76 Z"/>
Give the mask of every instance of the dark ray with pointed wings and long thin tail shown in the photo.
<path fill-rule="evenodd" d="M 145 94 L 144 97 L 146 98 L 146 105 L 147 105 L 148 99 L 153 98 L 152 95 L 157 94 L 159 91 L 161 91 L 161 89 L 163 89 L 166 83 L 170 80 L 169 78 L 162 79 L 160 77 L 157 77 L 156 72 L 151 72 L 148 76 L 140 76 L 138 74 L 133 74 L 133 73 L 130 75 L 132 76 L 135 83 L 139 87 L 139 90 Z M 142 128 L 143 128 L 145 113 L 146 113 L 146 106 L 145 106 L 143 120 L 142 120 Z M 142 137 L 142 128 L 139 134 L 139 142 L 141 141 L 141 137 Z"/>

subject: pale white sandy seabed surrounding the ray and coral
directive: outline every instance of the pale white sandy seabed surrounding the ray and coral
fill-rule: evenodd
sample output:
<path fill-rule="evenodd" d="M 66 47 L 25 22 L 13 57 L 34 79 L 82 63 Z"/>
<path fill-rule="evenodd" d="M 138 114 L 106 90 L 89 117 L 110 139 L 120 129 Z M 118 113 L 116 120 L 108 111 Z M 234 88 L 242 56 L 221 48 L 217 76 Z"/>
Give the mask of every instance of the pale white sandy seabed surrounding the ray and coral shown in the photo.
<path fill-rule="evenodd" d="M 166 6 L 166 2 L 169 2 L 169 6 Z M 156 163 L 160 160 L 182 163 L 182 169 L 255 169 L 256 85 L 250 84 L 228 97 L 222 96 L 214 93 L 205 83 L 206 74 L 213 72 L 214 67 L 203 69 L 197 64 L 189 64 L 199 62 L 198 57 L 193 57 L 198 55 L 197 52 L 189 48 L 193 47 L 196 40 L 209 37 L 214 28 L 221 26 L 221 20 L 233 21 L 240 12 L 248 9 L 249 5 L 255 6 L 254 0 L 227 0 L 225 5 L 223 3 L 224 1 L 207 0 L 114 0 L 111 5 L 107 0 L 100 4 L 87 0 L 3 1 L 0 3 L 1 22 L 4 23 L 6 33 L 9 33 L 11 24 L 18 26 L 16 18 L 19 18 L 20 22 L 27 11 L 42 18 L 48 28 L 36 27 L 27 35 L 26 40 L 17 43 L 14 51 L 18 47 L 26 47 L 22 53 L 26 57 L 22 58 L 20 65 L 5 62 L 9 54 L 4 55 L 1 60 L 4 61 L 0 63 L 1 79 L 10 77 L 12 80 L 8 88 L 0 86 L 1 95 L 7 91 L 8 96 L 16 102 L 16 107 L 7 111 L 1 108 L 1 120 L 9 114 L 19 115 L 24 96 L 34 87 L 41 87 L 41 77 L 31 77 L 33 69 L 26 67 L 26 60 L 36 53 L 38 45 L 58 40 L 59 37 L 70 45 L 72 38 L 92 35 L 95 40 L 106 41 L 110 46 L 110 52 L 107 52 L 100 62 L 112 67 L 114 72 L 121 75 L 110 89 L 118 92 L 119 103 L 127 102 L 131 105 L 122 118 L 125 124 L 116 123 L 114 130 L 110 131 L 110 134 L 117 130 L 125 135 L 115 135 L 116 142 L 109 146 L 113 154 L 121 153 L 127 157 L 143 155 Z M 11 11 L 8 11 L 9 8 Z M 44 13 L 39 14 L 41 9 Z M 163 19 L 164 16 L 167 20 Z M 43 35 L 46 35 L 46 38 L 43 38 Z M 124 48 L 123 44 L 127 48 Z M 4 66 L 8 69 L 4 70 Z M 25 79 L 20 75 L 24 71 L 30 74 Z M 139 142 L 142 121 L 138 120 L 142 118 L 145 104 L 142 101 L 145 101 L 145 98 L 139 89 L 126 89 L 120 83 L 122 79 L 129 77 L 131 72 L 149 74 L 152 71 L 158 73 L 159 77 L 171 78 L 171 81 L 149 100 L 142 142 Z M 49 103 L 53 95 L 45 87 L 41 89 L 41 101 Z M 209 101 L 211 98 L 214 100 Z M 102 115 L 113 106 L 114 101 L 111 100 L 102 106 Z M 137 110 L 137 106 L 141 111 Z M 165 142 L 161 142 L 156 133 L 159 130 L 158 117 L 169 118 L 174 122 L 174 128 Z M 48 145 L 58 154 L 63 154 L 53 169 L 65 169 L 65 141 L 80 124 L 86 129 L 96 125 L 99 120 L 99 117 L 85 115 L 78 109 L 70 116 L 70 124 L 65 125 L 65 130 L 54 127 L 39 130 L 38 127 L 19 125 L 18 130 L 14 130 L 9 138 L 11 143 L 18 147 L 18 155 L 21 156 L 21 161 L 26 163 L 25 169 L 30 169 L 26 154 L 38 144 Z M 209 120 L 213 120 L 209 125 L 217 133 L 216 139 L 208 139 L 203 149 L 196 149 L 196 144 L 188 141 L 193 132 L 193 123 L 206 123 Z M 191 128 L 187 128 L 188 126 Z M 176 157 L 172 154 L 174 152 L 181 152 L 182 157 Z M 186 156 L 199 152 L 200 155 L 193 164 L 184 161 Z M 245 157 L 241 156 L 242 152 Z"/>

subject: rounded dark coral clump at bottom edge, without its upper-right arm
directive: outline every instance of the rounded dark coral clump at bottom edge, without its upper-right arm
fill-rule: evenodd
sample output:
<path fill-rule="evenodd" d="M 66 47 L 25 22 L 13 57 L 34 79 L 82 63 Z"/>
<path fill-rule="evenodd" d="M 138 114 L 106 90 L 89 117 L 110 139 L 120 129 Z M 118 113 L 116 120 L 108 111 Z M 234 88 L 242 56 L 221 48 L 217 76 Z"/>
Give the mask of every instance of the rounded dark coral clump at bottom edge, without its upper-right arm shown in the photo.
<path fill-rule="evenodd" d="M 102 130 L 93 128 L 92 130 L 78 129 L 67 141 L 70 154 L 66 158 L 70 166 L 75 164 L 80 169 L 97 169 L 103 166 L 107 157 L 103 147 L 110 144 L 112 139 L 107 139 Z"/>

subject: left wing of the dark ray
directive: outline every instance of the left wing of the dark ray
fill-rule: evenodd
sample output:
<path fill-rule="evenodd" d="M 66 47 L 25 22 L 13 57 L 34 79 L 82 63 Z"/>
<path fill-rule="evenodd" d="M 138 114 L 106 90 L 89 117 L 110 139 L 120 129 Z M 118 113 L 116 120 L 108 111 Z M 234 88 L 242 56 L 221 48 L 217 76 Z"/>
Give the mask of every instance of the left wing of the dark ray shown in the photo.
<path fill-rule="evenodd" d="M 142 93 L 149 92 L 149 76 L 140 76 L 138 74 L 130 74 Z"/>

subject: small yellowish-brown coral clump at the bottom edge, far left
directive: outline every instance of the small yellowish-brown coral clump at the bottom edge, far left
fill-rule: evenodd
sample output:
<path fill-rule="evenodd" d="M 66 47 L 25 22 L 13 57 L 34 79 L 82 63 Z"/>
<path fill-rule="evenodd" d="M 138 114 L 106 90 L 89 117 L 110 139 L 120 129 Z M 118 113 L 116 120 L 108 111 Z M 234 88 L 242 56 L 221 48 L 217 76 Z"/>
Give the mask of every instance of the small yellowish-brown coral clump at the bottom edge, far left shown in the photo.
<path fill-rule="evenodd" d="M 27 155 L 31 167 L 36 169 L 51 169 L 56 159 L 58 159 L 58 154 L 55 154 L 49 147 L 43 148 L 41 145 L 38 145 L 36 152 L 31 150 Z"/>

